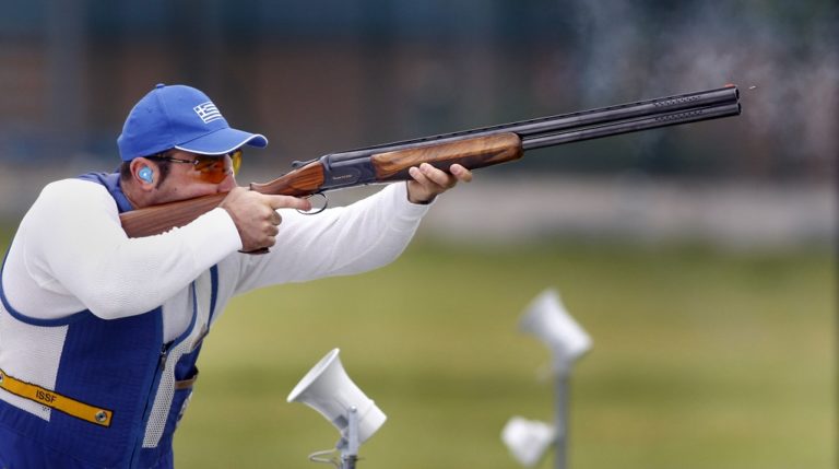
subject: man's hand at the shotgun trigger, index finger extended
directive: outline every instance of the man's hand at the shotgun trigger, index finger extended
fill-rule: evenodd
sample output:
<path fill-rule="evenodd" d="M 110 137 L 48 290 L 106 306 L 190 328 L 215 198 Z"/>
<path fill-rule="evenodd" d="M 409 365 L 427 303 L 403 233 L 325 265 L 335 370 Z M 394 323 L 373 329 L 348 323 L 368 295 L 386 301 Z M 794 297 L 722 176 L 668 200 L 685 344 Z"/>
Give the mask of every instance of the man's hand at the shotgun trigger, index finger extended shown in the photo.
<path fill-rule="evenodd" d="M 244 253 L 269 248 L 276 243 L 283 219 L 276 209 L 311 210 L 306 199 L 292 196 L 267 196 L 244 187 L 227 194 L 218 206 L 227 211 L 236 224 Z"/>

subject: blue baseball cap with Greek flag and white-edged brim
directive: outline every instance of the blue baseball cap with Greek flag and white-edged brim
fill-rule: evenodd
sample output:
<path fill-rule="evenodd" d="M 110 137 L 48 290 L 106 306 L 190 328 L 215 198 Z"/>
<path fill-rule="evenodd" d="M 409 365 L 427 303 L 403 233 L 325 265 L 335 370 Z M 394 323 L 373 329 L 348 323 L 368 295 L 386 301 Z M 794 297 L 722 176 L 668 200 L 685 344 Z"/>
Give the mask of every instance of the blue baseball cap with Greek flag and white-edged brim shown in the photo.
<path fill-rule="evenodd" d="M 233 129 L 213 102 L 191 86 L 158 84 L 128 114 L 117 139 L 122 161 L 178 149 L 221 155 L 241 145 L 265 148 L 259 133 Z"/>

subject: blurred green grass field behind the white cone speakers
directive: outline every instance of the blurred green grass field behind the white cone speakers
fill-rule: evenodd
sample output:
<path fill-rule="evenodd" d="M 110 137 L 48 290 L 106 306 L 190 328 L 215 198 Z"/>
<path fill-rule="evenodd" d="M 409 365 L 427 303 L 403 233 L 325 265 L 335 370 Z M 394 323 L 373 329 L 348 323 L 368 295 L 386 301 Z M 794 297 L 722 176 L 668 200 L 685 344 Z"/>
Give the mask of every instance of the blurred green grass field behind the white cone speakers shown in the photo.
<path fill-rule="evenodd" d="M 374 272 L 235 298 L 205 341 L 177 466 L 312 467 L 339 435 L 285 398 L 340 348 L 388 414 L 359 466 L 518 467 L 507 419 L 553 415 L 547 353 L 517 330 L 545 288 L 593 339 L 571 378 L 569 467 L 835 467 L 829 249 L 428 239 Z"/>

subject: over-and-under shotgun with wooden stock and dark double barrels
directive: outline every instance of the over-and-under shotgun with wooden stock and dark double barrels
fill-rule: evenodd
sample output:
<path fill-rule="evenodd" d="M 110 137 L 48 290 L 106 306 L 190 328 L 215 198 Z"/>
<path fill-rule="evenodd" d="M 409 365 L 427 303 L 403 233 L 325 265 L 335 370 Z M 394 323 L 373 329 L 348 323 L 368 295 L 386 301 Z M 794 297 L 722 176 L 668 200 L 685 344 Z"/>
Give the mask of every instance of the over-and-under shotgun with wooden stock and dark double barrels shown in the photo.
<path fill-rule="evenodd" d="M 522 120 L 330 153 L 294 162 L 292 171 L 265 184 L 250 184 L 261 194 L 307 197 L 329 190 L 407 180 L 421 163 L 448 171 L 459 163 L 469 169 L 520 159 L 528 150 L 599 139 L 658 127 L 736 116 L 735 85 L 637 103 Z M 226 192 L 162 203 L 120 215 L 129 237 L 151 236 L 184 226 L 217 207 Z"/>

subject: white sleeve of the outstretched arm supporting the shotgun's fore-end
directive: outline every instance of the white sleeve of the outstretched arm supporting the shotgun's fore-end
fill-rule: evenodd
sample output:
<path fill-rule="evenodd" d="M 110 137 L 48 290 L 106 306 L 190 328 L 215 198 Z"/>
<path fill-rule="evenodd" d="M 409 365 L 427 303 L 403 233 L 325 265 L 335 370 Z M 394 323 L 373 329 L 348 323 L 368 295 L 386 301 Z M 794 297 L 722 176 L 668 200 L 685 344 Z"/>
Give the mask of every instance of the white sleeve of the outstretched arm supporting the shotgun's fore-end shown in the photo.
<path fill-rule="evenodd" d="M 318 214 L 280 210 L 283 222 L 271 251 L 241 255 L 237 292 L 390 263 L 405 249 L 429 207 L 409 202 L 405 184 L 391 184 L 366 199 Z"/>

